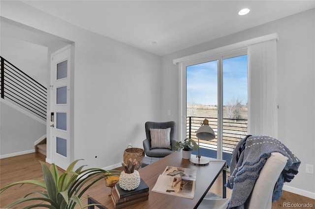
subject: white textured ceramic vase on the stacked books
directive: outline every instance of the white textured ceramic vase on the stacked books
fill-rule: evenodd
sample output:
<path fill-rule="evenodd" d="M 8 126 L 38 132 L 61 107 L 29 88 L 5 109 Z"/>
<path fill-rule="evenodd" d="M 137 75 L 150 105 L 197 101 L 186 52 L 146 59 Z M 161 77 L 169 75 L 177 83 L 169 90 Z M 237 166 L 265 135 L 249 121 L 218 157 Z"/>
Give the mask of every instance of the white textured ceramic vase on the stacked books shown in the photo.
<path fill-rule="evenodd" d="M 120 173 L 119 185 L 124 190 L 136 189 L 140 184 L 140 174 L 134 170 L 131 174 L 126 174 L 125 171 Z"/>

